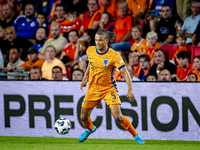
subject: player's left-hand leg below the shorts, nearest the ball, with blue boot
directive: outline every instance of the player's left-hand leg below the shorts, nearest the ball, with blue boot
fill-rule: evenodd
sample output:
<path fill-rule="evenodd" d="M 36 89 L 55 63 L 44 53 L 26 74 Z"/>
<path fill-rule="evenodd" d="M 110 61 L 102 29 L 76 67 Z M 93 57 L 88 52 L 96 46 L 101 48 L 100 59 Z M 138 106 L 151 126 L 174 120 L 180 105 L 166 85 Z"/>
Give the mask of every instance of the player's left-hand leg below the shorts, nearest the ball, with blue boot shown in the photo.
<path fill-rule="evenodd" d="M 79 142 L 84 142 L 88 136 L 96 131 L 96 127 L 92 124 L 92 119 L 90 117 L 93 108 L 97 105 L 95 101 L 84 101 L 81 108 L 81 120 L 83 125 L 87 128 L 79 137 Z M 87 108 L 89 107 L 89 108 Z"/>

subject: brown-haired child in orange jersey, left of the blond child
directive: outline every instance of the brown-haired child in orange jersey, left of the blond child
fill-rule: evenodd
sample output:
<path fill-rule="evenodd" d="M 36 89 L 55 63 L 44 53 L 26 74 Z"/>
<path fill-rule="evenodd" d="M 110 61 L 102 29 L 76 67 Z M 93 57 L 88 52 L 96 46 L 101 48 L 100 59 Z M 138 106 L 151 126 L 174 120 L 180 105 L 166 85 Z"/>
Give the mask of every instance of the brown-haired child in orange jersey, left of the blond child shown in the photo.
<path fill-rule="evenodd" d="M 131 34 L 135 43 L 131 46 L 131 51 L 139 51 L 145 54 L 145 48 L 147 47 L 147 40 L 142 38 L 142 27 L 140 25 L 134 25 L 131 28 Z"/>

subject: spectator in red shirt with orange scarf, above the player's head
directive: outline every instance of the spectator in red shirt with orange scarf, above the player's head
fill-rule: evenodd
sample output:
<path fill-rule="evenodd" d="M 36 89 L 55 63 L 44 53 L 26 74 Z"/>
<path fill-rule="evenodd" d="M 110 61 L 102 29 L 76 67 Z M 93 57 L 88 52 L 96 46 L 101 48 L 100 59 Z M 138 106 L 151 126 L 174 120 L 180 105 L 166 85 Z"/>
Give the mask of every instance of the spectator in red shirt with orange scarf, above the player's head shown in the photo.
<path fill-rule="evenodd" d="M 79 35 L 82 35 L 86 29 L 96 30 L 101 20 L 101 11 L 98 10 L 98 0 L 88 0 L 87 6 L 89 11 L 83 14 Z"/>

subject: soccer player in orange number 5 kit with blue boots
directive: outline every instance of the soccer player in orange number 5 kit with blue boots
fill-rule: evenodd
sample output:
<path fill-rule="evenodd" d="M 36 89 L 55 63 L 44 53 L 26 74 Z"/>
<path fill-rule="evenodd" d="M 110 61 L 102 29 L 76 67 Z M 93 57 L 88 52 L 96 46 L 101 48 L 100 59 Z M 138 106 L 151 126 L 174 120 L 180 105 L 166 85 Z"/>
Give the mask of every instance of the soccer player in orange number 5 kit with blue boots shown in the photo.
<path fill-rule="evenodd" d="M 95 35 L 96 46 L 87 49 L 89 65 L 83 77 L 80 88 L 87 85 L 89 75 L 88 91 L 82 103 L 81 120 L 87 128 L 79 137 L 79 142 L 84 142 L 88 136 L 96 131 L 90 117 L 94 107 L 100 104 L 103 99 L 109 106 L 110 111 L 122 127 L 129 131 L 133 138 L 139 144 L 145 144 L 144 139 L 136 132 L 129 119 L 122 115 L 116 83 L 113 77 L 113 68 L 117 67 L 124 76 L 127 85 L 127 97 L 134 101 L 134 93 L 130 75 L 126 69 L 125 63 L 119 53 L 110 49 L 110 41 L 116 40 L 116 34 L 105 29 L 100 29 Z"/>

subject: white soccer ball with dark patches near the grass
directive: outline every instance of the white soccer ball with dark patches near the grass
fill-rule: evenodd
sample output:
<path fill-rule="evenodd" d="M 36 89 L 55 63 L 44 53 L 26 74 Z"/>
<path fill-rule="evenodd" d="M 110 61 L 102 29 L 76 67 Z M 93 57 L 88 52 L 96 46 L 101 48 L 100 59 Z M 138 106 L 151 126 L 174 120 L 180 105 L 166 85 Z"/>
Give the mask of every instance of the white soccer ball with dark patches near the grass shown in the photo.
<path fill-rule="evenodd" d="M 65 134 L 69 133 L 69 131 L 71 129 L 71 123 L 66 118 L 60 118 L 60 119 L 56 120 L 56 122 L 54 124 L 54 128 L 58 134 L 65 135 Z"/>

